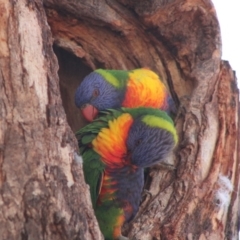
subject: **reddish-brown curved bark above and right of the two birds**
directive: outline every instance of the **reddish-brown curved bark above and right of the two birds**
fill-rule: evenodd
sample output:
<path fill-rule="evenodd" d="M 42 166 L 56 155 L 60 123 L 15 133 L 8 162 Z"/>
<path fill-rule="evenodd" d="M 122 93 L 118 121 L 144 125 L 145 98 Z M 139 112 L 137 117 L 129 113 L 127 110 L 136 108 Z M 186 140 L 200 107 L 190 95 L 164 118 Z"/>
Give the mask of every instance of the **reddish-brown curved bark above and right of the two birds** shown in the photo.
<path fill-rule="evenodd" d="M 236 239 L 238 90 L 230 66 L 221 61 L 219 25 L 212 3 L 44 3 L 55 44 L 79 58 L 81 72 L 99 67 L 149 67 L 179 103 L 176 169 L 152 169 L 152 197 L 145 197 L 125 233 L 144 240 Z M 61 63 L 63 55 L 58 56 Z M 67 78 L 60 74 L 62 82 Z M 77 86 L 82 75 L 71 79 Z M 67 84 L 64 89 L 73 96 Z M 79 118 L 68 109 L 66 112 L 70 118 Z"/>

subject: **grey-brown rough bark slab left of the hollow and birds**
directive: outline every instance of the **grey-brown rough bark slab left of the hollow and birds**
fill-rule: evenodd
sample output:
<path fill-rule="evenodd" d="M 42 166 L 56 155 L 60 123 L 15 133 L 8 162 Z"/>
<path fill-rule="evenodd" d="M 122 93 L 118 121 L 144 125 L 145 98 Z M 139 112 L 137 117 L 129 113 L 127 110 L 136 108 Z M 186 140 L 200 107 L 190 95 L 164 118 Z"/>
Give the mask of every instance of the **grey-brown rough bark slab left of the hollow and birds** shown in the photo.
<path fill-rule="evenodd" d="M 0 13 L 0 239 L 100 239 L 43 4 Z"/>

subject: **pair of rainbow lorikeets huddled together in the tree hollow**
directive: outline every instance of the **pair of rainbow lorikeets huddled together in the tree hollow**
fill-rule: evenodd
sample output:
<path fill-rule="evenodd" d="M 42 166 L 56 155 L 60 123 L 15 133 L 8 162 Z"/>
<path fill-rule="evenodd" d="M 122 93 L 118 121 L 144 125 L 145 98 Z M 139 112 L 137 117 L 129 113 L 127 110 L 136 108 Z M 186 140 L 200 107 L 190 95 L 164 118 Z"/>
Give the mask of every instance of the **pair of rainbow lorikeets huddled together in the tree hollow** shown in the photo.
<path fill-rule="evenodd" d="M 167 114 L 171 101 L 148 69 L 98 69 L 76 91 L 75 104 L 91 122 L 77 132 L 84 176 L 106 240 L 122 238 L 122 225 L 139 208 L 144 168 L 163 160 L 178 141 Z"/>

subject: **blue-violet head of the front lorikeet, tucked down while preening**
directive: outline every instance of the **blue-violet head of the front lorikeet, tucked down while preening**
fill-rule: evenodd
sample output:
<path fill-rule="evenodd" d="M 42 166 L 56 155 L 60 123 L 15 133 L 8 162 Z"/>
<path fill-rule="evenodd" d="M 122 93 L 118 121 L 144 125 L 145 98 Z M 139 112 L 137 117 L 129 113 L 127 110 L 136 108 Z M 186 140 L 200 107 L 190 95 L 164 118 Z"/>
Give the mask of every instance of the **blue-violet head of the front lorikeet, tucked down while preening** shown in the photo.
<path fill-rule="evenodd" d="M 127 139 L 128 158 L 131 163 L 145 168 L 164 160 L 177 141 L 174 126 L 170 128 L 169 131 L 168 128 L 150 126 L 143 119 L 136 119 Z"/>

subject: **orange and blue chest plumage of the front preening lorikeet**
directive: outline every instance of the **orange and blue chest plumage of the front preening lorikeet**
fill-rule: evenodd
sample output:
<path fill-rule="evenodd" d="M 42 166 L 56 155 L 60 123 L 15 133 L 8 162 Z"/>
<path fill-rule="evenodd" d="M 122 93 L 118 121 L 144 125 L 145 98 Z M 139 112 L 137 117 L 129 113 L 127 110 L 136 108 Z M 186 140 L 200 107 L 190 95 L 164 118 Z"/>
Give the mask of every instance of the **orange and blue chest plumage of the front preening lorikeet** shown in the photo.
<path fill-rule="evenodd" d="M 133 118 L 124 113 L 109 121 L 109 127 L 93 140 L 93 149 L 105 164 L 97 206 L 123 209 L 125 220 L 137 212 L 143 188 L 143 169 L 131 165 L 127 155 L 127 137 Z"/>

